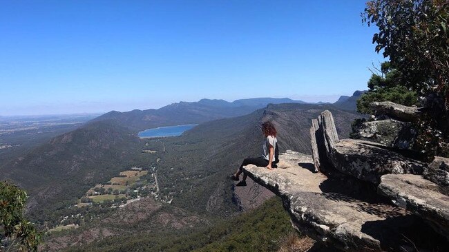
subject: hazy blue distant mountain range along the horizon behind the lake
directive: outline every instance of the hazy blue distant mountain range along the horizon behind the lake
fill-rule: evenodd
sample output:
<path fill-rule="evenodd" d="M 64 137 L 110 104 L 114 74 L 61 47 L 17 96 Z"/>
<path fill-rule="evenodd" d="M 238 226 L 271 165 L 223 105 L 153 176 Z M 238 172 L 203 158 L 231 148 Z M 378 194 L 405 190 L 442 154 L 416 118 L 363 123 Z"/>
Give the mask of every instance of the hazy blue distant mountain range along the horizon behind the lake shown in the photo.
<path fill-rule="evenodd" d="M 357 91 L 353 96 L 341 96 L 334 103 L 335 107 L 343 110 L 355 111 L 356 99 L 363 94 Z M 166 105 L 160 109 L 135 109 L 130 112 L 111 111 L 95 118 L 98 120 L 111 120 L 118 125 L 128 127 L 133 132 L 141 131 L 151 127 L 169 125 L 182 125 L 193 123 L 204 123 L 220 118 L 242 116 L 261 109 L 269 104 L 297 103 L 297 104 L 329 104 L 329 103 L 306 103 L 295 101 L 290 98 L 248 98 L 233 102 L 225 100 L 202 99 L 198 102 L 180 102 Z"/>

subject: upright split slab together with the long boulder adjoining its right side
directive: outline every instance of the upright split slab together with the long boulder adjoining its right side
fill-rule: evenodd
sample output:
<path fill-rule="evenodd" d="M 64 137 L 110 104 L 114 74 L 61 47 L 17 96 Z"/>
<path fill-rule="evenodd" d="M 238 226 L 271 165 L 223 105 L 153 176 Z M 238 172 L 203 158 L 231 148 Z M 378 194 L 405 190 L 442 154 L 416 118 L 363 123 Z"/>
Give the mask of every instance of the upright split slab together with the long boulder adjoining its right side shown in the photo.
<path fill-rule="evenodd" d="M 343 174 L 378 185 L 383 174 L 422 174 L 423 165 L 401 154 L 390 151 L 385 145 L 363 140 L 338 140 L 334 119 L 329 111 L 318 116 L 318 129 L 312 122 L 311 138 L 322 134 L 322 141 L 312 140 L 315 169 L 326 162 Z M 317 167 L 318 164 L 318 167 Z M 327 167 L 329 169 L 329 167 Z"/>

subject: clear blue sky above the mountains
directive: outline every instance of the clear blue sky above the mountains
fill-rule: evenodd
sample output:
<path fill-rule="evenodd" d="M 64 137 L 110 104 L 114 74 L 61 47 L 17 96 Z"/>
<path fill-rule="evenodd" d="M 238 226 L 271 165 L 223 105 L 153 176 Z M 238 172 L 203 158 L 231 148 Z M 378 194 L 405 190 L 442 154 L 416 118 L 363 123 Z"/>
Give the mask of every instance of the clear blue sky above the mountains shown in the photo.
<path fill-rule="evenodd" d="M 0 115 L 366 89 L 365 0 L 0 1 Z"/>

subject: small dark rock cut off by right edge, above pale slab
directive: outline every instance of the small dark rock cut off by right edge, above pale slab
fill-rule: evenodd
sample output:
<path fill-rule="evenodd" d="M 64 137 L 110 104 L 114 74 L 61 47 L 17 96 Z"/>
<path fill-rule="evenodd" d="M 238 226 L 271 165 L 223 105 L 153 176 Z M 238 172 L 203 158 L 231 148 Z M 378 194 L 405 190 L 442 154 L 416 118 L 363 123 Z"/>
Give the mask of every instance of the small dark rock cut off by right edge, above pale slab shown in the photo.
<path fill-rule="evenodd" d="M 443 187 L 444 193 L 449 195 L 449 158 L 435 156 L 433 162 L 424 169 L 423 176 Z"/>

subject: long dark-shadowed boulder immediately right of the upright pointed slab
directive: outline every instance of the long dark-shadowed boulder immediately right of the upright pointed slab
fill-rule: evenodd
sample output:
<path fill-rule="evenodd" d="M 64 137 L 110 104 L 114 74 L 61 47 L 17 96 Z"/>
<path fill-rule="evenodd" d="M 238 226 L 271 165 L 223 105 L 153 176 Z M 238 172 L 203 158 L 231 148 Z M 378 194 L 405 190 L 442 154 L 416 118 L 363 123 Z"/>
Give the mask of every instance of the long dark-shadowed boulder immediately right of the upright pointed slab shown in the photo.
<path fill-rule="evenodd" d="M 343 139 L 329 154 L 335 169 L 360 180 L 379 185 L 384 174 L 422 174 L 424 165 L 390 151 L 385 145 L 364 140 Z"/>

